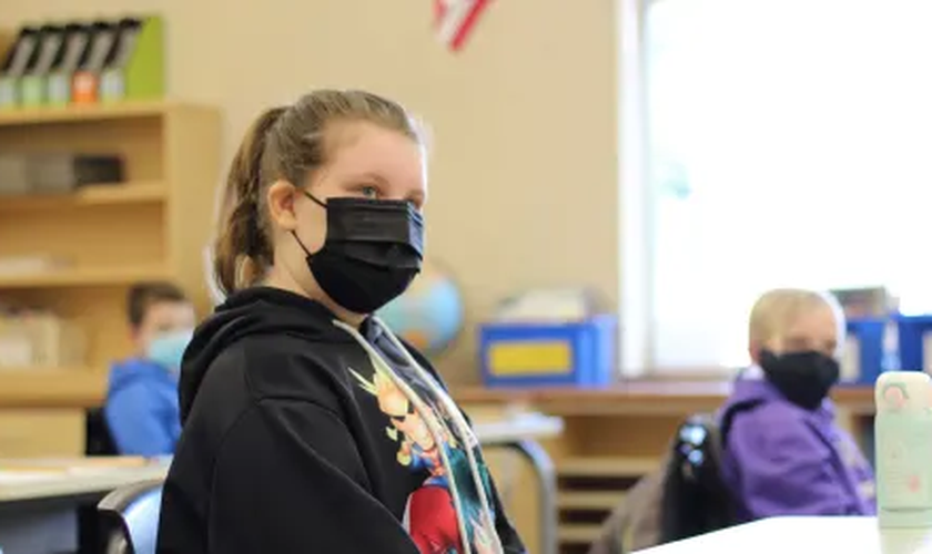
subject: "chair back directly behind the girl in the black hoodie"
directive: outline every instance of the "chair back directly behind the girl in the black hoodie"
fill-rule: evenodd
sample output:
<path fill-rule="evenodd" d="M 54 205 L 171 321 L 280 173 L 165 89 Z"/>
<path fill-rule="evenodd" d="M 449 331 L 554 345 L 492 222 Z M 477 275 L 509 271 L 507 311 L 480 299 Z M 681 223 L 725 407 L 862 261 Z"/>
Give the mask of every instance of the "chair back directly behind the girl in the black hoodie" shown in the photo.
<path fill-rule="evenodd" d="M 122 486 L 100 501 L 104 554 L 155 554 L 162 483 L 159 479 Z"/>

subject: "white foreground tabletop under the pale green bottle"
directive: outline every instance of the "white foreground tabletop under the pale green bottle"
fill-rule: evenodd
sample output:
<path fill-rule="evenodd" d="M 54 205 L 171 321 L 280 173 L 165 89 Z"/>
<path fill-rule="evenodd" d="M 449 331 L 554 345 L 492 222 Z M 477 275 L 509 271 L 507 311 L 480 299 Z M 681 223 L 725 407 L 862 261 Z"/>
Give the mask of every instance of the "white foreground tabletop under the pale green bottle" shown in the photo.
<path fill-rule="evenodd" d="M 636 554 L 932 554 L 932 529 L 880 530 L 875 517 L 772 517 Z"/>

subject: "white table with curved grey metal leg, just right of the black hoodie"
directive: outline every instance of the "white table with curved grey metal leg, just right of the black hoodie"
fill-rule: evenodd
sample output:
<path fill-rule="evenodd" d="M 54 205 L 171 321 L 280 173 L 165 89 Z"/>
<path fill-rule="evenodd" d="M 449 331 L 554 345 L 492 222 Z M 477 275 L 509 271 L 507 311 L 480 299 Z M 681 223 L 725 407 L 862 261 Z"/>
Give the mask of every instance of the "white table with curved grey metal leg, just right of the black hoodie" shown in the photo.
<path fill-rule="evenodd" d="M 511 450 L 527 460 L 540 491 L 540 552 L 557 553 L 557 471 L 554 462 L 537 441 L 563 432 L 563 420 L 541 413 L 519 413 L 492 421 L 476 421 L 473 431 L 485 448 Z"/>

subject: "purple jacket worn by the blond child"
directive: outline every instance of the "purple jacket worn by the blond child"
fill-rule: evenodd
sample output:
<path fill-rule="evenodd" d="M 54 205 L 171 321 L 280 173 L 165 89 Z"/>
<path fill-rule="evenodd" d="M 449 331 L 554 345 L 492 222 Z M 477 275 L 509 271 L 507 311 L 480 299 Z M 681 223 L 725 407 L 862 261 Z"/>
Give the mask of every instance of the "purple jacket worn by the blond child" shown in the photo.
<path fill-rule="evenodd" d="M 873 515 L 873 471 L 834 422 L 830 400 L 814 412 L 790 403 L 763 379 L 739 379 L 723 409 L 747 400 L 725 444 L 722 478 L 739 516 Z"/>

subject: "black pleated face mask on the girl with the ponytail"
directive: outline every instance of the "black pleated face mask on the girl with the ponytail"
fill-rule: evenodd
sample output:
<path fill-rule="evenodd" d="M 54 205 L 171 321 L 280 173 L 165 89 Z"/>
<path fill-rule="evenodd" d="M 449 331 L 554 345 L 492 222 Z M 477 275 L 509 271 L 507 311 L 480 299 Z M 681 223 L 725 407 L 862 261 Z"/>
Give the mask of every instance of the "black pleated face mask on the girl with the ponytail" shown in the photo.
<path fill-rule="evenodd" d="M 333 301 L 356 314 L 372 314 L 407 289 L 421 271 L 424 219 L 404 201 L 330 198 L 324 246 L 307 254 L 307 267 Z"/>

